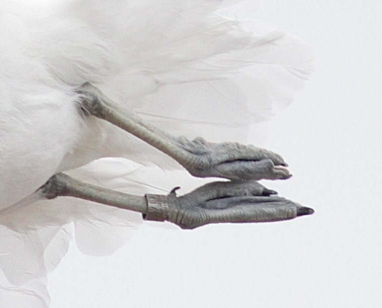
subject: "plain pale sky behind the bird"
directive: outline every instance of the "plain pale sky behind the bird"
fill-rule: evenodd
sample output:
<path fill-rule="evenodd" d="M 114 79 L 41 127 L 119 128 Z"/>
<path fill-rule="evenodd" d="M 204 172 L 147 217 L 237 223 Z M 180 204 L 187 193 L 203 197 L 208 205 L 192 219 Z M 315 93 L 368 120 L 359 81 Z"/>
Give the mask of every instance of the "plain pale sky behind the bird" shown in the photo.
<path fill-rule="evenodd" d="M 51 307 L 381 307 L 381 14 L 377 0 L 272 0 L 257 14 L 315 52 L 312 79 L 256 144 L 294 175 L 266 185 L 313 216 L 193 231 L 145 224 L 105 258 L 72 245 L 48 277 Z"/>

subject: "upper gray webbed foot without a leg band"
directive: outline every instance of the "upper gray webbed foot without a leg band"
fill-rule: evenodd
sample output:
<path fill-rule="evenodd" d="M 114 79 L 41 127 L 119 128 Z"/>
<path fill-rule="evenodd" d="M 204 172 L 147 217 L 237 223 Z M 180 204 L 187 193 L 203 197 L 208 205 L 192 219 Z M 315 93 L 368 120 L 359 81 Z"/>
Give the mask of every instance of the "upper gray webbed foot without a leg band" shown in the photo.
<path fill-rule="evenodd" d="M 177 139 L 183 150 L 191 153 L 183 166 L 195 177 L 231 180 L 284 180 L 292 175 L 283 158 L 266 149 L 236 142 L 211 143 L 203 138 Z"/>

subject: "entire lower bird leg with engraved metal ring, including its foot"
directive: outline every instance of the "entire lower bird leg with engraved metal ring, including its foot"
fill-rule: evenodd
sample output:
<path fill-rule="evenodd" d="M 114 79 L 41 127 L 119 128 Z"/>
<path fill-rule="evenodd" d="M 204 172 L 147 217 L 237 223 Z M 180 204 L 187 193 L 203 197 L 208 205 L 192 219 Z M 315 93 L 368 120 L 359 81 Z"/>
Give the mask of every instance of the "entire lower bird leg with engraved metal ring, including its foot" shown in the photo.
<path fill-rule="evenodd" d="M 124 194 L 77 181 L 67 175 L 53 176 L 39 193 L 45 199 L 59 196 L 81 198 L 143 214 L 146 220 L 169 221 L 182 229 L 210 223 L 270 222 L 312 214 L 303 207 L 265 188 L 254 180 L 212 182 L 178 197 L 175 188 L 169 195 L 145 197 Z"/>

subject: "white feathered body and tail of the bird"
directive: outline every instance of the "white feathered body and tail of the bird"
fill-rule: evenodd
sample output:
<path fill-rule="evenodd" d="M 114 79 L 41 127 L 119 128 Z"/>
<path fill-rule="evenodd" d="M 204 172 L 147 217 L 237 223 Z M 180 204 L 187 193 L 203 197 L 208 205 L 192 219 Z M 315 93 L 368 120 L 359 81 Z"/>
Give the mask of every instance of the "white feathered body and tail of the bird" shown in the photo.
<path fill-rule="evenodd" d="M 45 275 L 67 250 L 68 223 L 75 222 L 82 251 L 102 255 L 122 245 L 126 229 L 141 221 L 130 211 L 80 199 L 45 200 L 44 184 L 54 175 L 66 172 L 86 183 L 142 195 L 155 192 L 155 180 L 144 179 L 147 168 L 153 174 L 180 168 L 180 163 L 190 171 L 165 143 L 151 141 L 145 132 L 135 133 L 138 138 L 126 133 L 113 125 L 115 119 L 99 119 L 84 105 L 89 97 L 104 98 L 117 111 L 128 110 L 134 125 L 175 140 L 198 157 L 212 146 L 214 159 L 221 150 L 217 144 L 172 136 L 245 141 L 246 126 L 291 101 L 310 73 L 309 53 L 291 35 L 260 24 L 252 24 L 250 32 L 238 20 L 224 17 L 228 5 L 237 2 L 0 1 L 2 307 L 49 305 Z M 149 122 L 156 128 L 142 124 Z M 225 163 L 257 162 L 254 154 L 247 157 L 247 147 L 237 157 L 232 146 L 223 146 L 234 156 L 228 155 Z M 279 156 L 255 153 L 266 153 L 255 164 L 257 176 L 241 172 L 246 165 L 190 172 L 244 180 L 288 177 L 285 169 L 274 166 L 284 164 Z M 262 165 L 264 158 L 273 160 L 271 167 L 269 160 Z M 216 189 L 202 188 L 199 195 L 211 187 Z M 252 194 L 247 187 L 240 189 Z"/>

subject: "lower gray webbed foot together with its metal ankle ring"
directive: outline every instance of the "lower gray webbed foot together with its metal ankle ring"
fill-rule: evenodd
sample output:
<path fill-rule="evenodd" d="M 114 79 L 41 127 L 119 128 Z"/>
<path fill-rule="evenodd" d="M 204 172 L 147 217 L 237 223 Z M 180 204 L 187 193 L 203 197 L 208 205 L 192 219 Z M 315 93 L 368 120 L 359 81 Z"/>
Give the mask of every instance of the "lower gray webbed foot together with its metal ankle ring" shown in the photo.
<path fill-rule="evenodd" d="M 167 198 L 147 195 L 146 220 L 170 221 L 183 229 L 210 223 L 249 223 L 293 219 L 313 214 L 268 190 L 256 181 L 214 182 L 177 197 L 174 189 Z"/>

